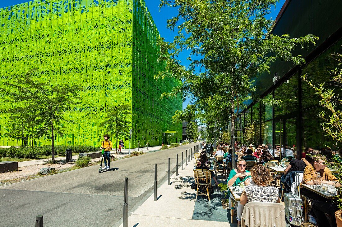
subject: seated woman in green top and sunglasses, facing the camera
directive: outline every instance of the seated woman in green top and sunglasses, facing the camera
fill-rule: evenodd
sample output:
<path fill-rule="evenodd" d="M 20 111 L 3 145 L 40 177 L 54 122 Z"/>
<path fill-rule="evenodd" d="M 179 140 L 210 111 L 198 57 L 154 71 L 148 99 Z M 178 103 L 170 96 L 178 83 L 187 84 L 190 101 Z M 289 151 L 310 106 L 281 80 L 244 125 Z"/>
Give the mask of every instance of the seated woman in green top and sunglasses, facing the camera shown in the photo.
<path fill-rule="evenodd" d="M 249 183 L 249 181 L 245 181 L 247 178 L 250 178 L 250 172 L 248 170 L 246 170 L 246 161 L 243 159 L 239 159 L 237 161 L 237 169 L 233 169 L 230 173 L 229 173 L 229 177 L 227 179 L 227 185 L 228 186 L 237 186 L 240 182 L 246 182 L 246 185 Z M 229 207 L 231 207 L 232 204 L 232 199 L 233 195 L 230 194 L 229 195 Z M 244 211 L 244 205 L 241 205 L 239 201 L 237 202 L 237 207 L 235 207 L 236 209 L 236 220 L 237 220 L 237 224 L 238 226 L 240 226 L 240 221 L 241 221 L 241 215 L 242 212 Z"/>

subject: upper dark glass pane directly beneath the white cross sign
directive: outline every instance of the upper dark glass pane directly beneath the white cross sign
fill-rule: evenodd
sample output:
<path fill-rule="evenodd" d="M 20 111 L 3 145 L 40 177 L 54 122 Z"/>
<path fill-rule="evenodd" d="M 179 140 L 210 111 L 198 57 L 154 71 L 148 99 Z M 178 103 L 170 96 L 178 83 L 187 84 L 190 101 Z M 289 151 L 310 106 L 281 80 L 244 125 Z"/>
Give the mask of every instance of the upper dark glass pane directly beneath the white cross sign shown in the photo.
<path fill-rule="evenodd" d="M 294 74 L 277 87 L 274 91 L 274 97 L 282 101 L 279 106 L 274 107 L 274 117 L 298 110 L 298 74 Z"/>

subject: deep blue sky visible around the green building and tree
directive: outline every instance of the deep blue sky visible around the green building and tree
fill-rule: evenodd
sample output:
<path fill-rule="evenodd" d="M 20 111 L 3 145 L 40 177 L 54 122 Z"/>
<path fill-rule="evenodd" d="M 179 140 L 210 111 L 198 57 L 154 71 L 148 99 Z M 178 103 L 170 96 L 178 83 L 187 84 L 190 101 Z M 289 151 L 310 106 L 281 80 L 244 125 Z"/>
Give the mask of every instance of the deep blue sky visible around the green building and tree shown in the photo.
<path fill-rule="evenodd" d="M 27 2 L 26 0 L 0 0 L 0 8 L 16 5 L 19 3 Z M 281 9 L 281 6 L 284 4 L 285 0 L 280 0 L 277 3 L 276 10 L 272 10 L 272 13 L 269 14 L 269 17 L 275 19 Z M 177 31 L 172 32 L 170 29 L 167 29 L 167 19 L 177 15 L 177 9 L 171 7 L 163 7 L 159 10 L 159 0 L 145 0 L 146 6 L 153 17 L 156 26 L 159 30 L 160 36 L 164 37 L 166 41 L 172 42 L 173 37 L 177 34 Z M 184 66 L 189 65 L 189 61 L 186 59 L 188 55 L 184 53 L 183 55 L 179 56 L 179 60 L 182 62 Z M 183 109 L 187 106 L 189 100 L 185 100 L 183 103 Z"/>

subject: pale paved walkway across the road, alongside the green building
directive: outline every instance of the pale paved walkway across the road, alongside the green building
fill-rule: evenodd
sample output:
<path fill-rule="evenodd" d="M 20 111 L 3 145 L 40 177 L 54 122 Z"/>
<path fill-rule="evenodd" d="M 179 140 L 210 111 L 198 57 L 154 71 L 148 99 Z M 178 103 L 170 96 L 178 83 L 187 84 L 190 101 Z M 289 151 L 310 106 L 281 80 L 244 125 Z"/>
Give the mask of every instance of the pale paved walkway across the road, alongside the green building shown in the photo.
<path fill-rule="evenodd" d="M 146 152 L 151 152 L 151 151 L 157 151 L 159 150 L 160 147 L 159 146 L 155 146 L 155 147 L 149 147 L 147 149 L 147 147 L 143 147 L 140 148 L 139 151 L 143 151 L 144 153 Z M 131 152 L 133 151 L 138 151 L 137 148 L 131 148 Z M 114 154 L 115 153 L 115 148 L 111 150 L 111 152 Z M 129 154 L 129 149 L 122 149 L 122 152 L 116 154 L 116 156 L 119 157 L 123 157 Z M 72 160 L 76 160 L 78 158 L 78 155 L 73 155 L 72 156 Z M 30 160 L 30 161 L 25 161 L 25 162 L 18 162 L 18 168 L 20 167 L 24 167 L 24 166 L 33 166 L 33 165 L 40 165 L 40 164 L 45 164 L 47 162 L 49 162 L 51 160 L 51 158 L 45 158 L 45 159 L 39 159 L 39 160 Z M 101 160 L 101 158 L 94 158 L 93 161 L 98 161 Z M 56 157 L 55 158 L 56 162 L 62 162 L 65 161 L 65 156 L 64 157 Z"/>

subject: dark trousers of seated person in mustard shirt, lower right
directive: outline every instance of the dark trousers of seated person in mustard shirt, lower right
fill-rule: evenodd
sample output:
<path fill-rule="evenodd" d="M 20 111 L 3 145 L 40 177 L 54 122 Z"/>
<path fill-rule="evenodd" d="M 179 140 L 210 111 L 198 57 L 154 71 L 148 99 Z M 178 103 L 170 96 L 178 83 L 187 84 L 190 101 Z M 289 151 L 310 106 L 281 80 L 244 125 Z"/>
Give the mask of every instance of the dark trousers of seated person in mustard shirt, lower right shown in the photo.
<path fill-rule="evenodd" d="M 319 200 L 313 200 L 311 201 L 311 213 L 312 216 L 316 217 L 316 221 L 317 224 L 319 226 L 328 226 L 328 218 L 325 215 L 325 213 L 331 215 L 331 219 L 332 219 L 332 223 L 331 226 L 332 227 L 337 227 L 336 225 L 336 220 L 335 220 L 335 212 L 338 210 L 337 205 L 332 202 L 332 201 L 328 201 L 328 202 L 323 202 L 323 201 L 319 201 Z"/>

